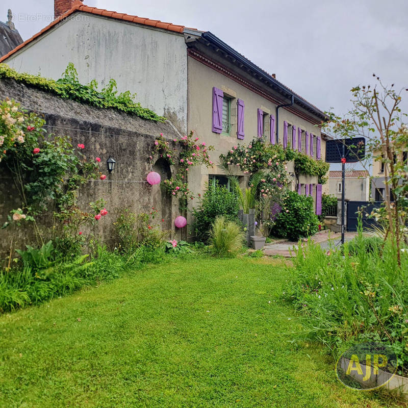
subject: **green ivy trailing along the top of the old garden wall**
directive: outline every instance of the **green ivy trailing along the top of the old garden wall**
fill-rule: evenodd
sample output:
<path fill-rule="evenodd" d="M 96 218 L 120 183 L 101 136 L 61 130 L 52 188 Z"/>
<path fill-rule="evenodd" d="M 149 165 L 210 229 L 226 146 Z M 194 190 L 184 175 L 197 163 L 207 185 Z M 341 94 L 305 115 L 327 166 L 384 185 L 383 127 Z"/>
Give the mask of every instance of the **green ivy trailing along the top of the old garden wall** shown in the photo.
<path fill-rule="evenodd" d="M 71 62 L 62 74 L 62 78 L 58 81 L 43 78 L 39 75 L 19 73 L 6 64 L 0 64 L 0 78 L 10 78 L 25 85 L 54 93 L 62 98 L 76 100 L 97 108 L 114 108 L 148 120 L 161 122 L 166 120 L 150 109 L 143 108 L 140 103 L 135 102 L 134 97 L 136 94 L 132 95 L 130 91 L 118 93 L 116 81 L 113 79 L 102 90 L 97 89 L 98 84 L 95 80 L 87 85 L 81 84 L 78 79 L 78 72 Z"/>

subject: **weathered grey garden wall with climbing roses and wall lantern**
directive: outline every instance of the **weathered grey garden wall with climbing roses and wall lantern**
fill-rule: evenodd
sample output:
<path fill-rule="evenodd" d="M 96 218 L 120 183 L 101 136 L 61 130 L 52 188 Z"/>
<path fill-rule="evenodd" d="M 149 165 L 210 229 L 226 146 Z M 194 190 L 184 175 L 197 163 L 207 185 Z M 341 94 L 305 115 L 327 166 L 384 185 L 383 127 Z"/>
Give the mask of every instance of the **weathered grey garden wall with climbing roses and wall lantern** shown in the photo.
<path fill-rule="evenodd" d="M 180 136 L 169 121 L 154 122 L 113 109 L 94 108 L 13 80 L 0 79 L 0 100 L 7 97 L 21 103 L 23 108 L 42 115 L 48 133 L 67 135 L 74 146 L 78 143 L 85 145 L 83 152 L 87 157 L 100 157 L 100 169 L 107 179 L 91 181 L 82 188 L 79 204 L 81 209 L 88 211 L 89 202 L 99 198 L 107 201 L 109 216 L 102 217 L 94 231 L 101 241 L 108 245 L 113 243 L 113 222 L 121 209 L 128 208 L 136 213 L 150 212 L 152 206 L 159 209 L 158 224 L 170 230 L 172 237 L 181 238 L 181 232 L 175 231 L 172 222 L 180 215 L 178 199 L 166 197 L 160 186 L 150 186 L 145 181 L 150 171 L 148 156 L 155 137 L 160 133 L 169 139 Z M 109 156 L 116 160 L 115 170 L 111 174 L 106 164 Z M 159 162 L 155 170 L 169 177 L 174 169 L 163 168 Z M 10 210 L 21 206 L 10 180 L 0 164 L 0 225 L 7 220 Z M 1 253 L 9 250 L 12 236 L 8 228 L 0 230 Z M 17 235 L 16 247 L 23 247 L 27 239 L 24 233 Z"/>

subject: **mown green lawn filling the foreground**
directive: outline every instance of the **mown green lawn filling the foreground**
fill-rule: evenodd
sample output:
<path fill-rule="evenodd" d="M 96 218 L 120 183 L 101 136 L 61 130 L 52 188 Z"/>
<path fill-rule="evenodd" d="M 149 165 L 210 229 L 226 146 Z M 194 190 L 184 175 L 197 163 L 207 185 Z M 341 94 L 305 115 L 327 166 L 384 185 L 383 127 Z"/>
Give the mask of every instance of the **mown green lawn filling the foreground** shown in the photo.
<path fill-rule="evenodd" d="M 197 258 L 0 317 L 1 407 L 379 407 L 279 299 L 278 260 Z M 270 301 L 270 303 L 269 303 Z"/>

